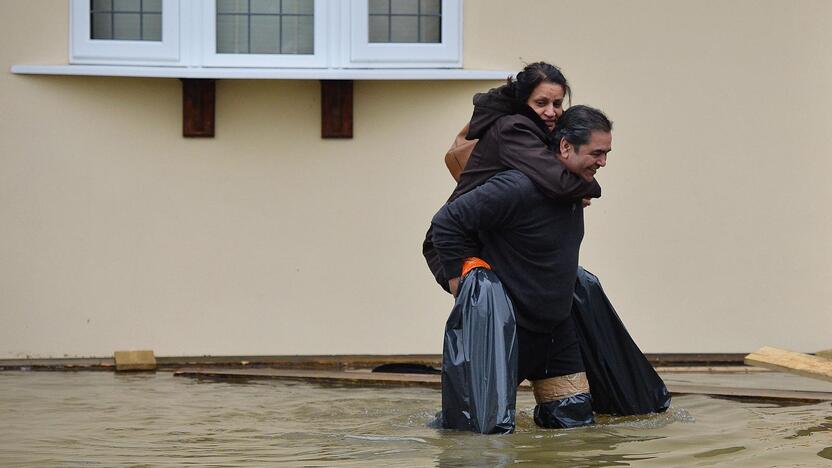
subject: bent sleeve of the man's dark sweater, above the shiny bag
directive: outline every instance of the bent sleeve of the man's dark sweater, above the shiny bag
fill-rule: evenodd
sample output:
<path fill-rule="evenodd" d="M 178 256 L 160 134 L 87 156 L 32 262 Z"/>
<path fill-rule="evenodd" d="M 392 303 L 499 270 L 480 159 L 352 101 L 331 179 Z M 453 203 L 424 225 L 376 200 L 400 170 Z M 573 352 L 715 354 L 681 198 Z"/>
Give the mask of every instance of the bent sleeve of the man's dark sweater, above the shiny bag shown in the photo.
<path fill-rule="evenodd" d="M 479 255 L 478 231 L 505 228 L 522 212 L 531 181 L 516 170 L 501 172 L 443 206 L 431 221 L 433 246 L 445 275 L 459 276 L 462 263 Z"/>

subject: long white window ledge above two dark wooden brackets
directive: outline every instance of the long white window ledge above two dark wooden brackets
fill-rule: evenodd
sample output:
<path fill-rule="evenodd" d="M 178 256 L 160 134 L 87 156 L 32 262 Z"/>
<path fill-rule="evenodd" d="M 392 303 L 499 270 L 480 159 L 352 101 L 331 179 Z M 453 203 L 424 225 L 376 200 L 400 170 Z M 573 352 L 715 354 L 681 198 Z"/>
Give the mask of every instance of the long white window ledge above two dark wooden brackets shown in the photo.
<path fill-rule="evenodd" d="M 505 80 L 514 72 L 462 69 L 185 68 L 121 65 L 12 65 L 19 75 L 261 80 Z"/>

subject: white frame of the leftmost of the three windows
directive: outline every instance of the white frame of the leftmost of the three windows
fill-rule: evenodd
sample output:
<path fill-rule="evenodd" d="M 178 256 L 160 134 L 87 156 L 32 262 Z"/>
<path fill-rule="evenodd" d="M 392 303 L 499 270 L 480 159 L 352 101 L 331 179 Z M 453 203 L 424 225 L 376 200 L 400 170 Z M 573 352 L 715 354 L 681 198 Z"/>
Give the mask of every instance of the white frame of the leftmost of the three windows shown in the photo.
<path fill-rule="evenodd" d="M 179 65 L 179 0 L 162 0 L 162 40 L 91 39 L 90 1 L 70 2 L 70 63 Z"/>

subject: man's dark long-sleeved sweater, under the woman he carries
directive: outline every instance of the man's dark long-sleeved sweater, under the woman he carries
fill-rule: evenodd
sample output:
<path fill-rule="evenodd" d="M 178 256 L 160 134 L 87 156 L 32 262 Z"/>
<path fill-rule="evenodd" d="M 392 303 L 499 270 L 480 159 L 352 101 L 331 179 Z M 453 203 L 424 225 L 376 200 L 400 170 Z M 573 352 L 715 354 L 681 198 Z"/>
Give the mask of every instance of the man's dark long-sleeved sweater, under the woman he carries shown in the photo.
<path fill-rule="evenodd" d="M 523 173 L 509 170 L 446 203 L 431 227 L 442 267 L 452 276 L 470 256 L 491 265 L 519 326 L 547 333 L 570 316 L 584 235 L 580 200 L 551 200 Z"/>

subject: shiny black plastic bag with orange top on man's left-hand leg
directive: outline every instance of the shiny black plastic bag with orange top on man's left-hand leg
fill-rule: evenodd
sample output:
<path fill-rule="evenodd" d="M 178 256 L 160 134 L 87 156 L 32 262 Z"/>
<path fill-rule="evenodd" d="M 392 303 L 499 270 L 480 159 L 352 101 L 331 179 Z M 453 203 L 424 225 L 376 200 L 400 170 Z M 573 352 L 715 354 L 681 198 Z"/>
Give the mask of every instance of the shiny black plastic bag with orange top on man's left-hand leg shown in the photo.
<path fill-rule="evenodd" d="M 514 307 L 497 275 L 475 268 L 460 283 L 445 324 L 442 427 L 511 433 L 516 400 Z"/>

